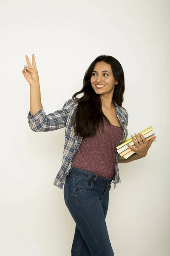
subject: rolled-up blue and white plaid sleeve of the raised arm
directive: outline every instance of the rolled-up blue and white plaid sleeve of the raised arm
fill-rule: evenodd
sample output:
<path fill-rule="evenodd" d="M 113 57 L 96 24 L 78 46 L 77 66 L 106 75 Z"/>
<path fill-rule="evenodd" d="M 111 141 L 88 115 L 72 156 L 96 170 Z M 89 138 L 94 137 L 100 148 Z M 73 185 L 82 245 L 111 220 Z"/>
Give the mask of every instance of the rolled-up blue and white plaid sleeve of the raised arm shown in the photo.
<path fill-rule="evenodd" d="M 32 131 L 45 132 L 54 131 L 64 128 L 67 122 L 68 113 L 74 107 L 73 99 L 68 99 L 63 105 L 62 109 L 54 111 L 54 113 L 45 114 L 42 108 L 34 115 L 28 113 L 28 124 Z"/>

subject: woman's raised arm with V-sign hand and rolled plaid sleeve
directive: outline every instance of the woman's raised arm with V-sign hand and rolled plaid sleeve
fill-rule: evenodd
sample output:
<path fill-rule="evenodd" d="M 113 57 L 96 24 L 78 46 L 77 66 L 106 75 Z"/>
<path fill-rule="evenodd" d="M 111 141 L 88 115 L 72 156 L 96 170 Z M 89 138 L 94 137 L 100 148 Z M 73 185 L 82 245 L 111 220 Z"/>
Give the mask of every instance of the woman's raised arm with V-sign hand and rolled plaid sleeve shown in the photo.
<path fill-rule="evenodd" d="M 26 61 L 28 67 L 25 65 L 23 75 L 30 85 L 30 111 L 27 116 L 29 127 L 36 132 L 54 131 L 65 127 L 68 112 L 74 106 L 73 99 L 68 99 L 62 109 L 46 115 L 41 104 L 40 81 L 34 55 L 32 65 L 27 55 Z"/>

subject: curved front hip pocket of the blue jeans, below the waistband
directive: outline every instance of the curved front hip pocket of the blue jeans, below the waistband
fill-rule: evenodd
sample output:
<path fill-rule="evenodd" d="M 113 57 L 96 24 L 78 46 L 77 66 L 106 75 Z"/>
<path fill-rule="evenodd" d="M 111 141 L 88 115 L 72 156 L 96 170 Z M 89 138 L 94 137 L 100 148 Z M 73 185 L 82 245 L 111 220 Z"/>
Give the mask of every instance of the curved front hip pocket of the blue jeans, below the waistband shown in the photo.
<path fill-rule="evenodd" d="M 88 189 L 91 189 L 92 182 L 85 177 L 75 177 L 74 178 L 74 191 L 77 193 L 85 192 Z"/>

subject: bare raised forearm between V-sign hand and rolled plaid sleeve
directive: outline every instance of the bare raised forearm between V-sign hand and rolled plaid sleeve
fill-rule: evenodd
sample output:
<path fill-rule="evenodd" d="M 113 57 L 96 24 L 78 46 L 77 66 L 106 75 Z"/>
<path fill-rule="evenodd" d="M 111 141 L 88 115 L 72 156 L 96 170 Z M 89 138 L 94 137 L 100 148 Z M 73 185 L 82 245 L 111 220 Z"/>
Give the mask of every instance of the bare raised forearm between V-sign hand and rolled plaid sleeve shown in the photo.
<path fill-rule="evenodd" d="M 30 85 L 30 114 L 37 113 L 42 108 L 40 84 Z"/>

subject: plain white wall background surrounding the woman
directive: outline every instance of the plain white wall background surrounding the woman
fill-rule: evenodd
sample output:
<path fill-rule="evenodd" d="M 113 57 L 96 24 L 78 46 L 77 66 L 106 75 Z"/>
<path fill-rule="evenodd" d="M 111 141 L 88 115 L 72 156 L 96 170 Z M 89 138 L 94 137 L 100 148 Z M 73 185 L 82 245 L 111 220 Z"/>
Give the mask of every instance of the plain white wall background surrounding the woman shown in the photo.
<path fill-rule="evenodd" d="M 125 74 L 128 137 L 153 126 L 147 156 L 120 164 L 110 191 L 108 232 L 115 256 L 170 255 L 170 18 L 166 0 L 6 1 L 0 6 L 0 255 L 68 256 L 75 222 L 54 186 L 65 129 L 28 125 L 25 55 L 34 53 L 45 113 L 82 88 L 88 66 L 112 55 Z M 112 184 L 114 185 L 114 184 Z"/>

